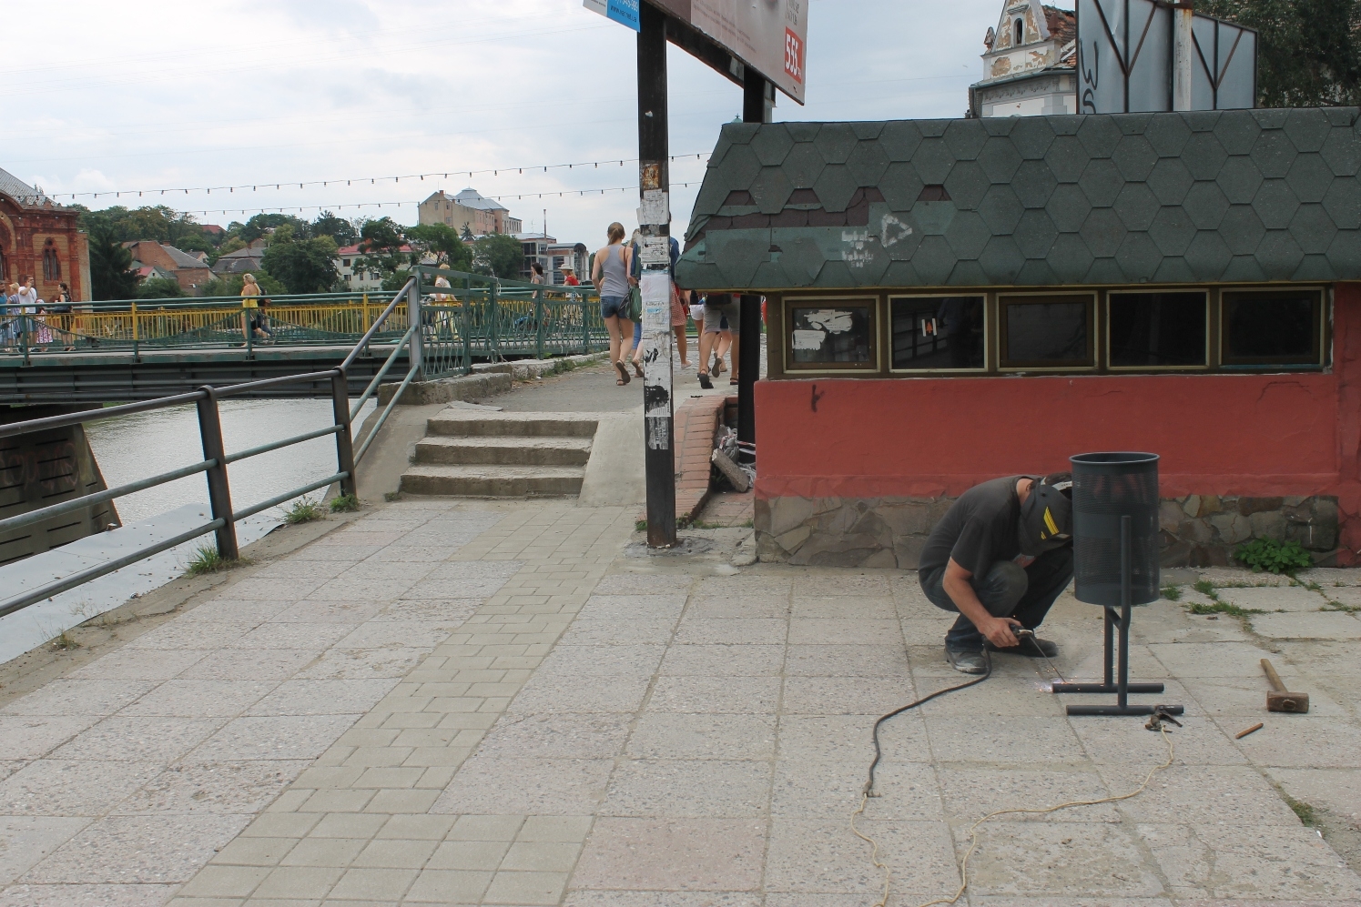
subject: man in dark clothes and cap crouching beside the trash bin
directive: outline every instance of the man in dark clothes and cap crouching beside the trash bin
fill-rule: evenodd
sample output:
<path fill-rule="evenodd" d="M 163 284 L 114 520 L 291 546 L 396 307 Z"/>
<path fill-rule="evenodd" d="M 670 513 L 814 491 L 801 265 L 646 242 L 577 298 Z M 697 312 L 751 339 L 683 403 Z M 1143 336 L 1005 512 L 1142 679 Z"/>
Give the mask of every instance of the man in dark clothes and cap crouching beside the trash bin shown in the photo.
<path fill-rule="evenodd" d="M 931 604 L 960 615 L 945 635 L 955 670 L 981 674 L 984 645 L 1055 657 L 1052 642 L 1022 643 L 1013 628 L 1037 628 L 1072 579 L 1072 476 L 1007 476 L 969 488 L 931 530 L 917 578 Z"/>

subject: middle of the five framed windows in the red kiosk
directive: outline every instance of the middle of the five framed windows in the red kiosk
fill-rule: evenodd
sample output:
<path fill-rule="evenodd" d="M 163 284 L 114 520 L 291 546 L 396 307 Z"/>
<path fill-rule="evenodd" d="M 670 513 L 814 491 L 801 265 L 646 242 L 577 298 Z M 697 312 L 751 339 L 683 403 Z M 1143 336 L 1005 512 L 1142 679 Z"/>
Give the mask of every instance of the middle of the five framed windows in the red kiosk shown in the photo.
<path fill-rule="evenodd" d="M 1002 296 L 1003 369 L 1082 369 L 1096 364 L 1092 296 Z"/>

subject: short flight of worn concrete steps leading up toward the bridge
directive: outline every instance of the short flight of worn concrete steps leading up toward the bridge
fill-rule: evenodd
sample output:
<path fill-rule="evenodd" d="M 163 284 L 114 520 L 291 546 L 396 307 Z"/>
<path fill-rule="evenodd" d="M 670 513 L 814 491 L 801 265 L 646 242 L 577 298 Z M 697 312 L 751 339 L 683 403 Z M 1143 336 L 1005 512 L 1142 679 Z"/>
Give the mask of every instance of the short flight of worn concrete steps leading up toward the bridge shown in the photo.
<path fill-rule="evenodd" d="M 595 413 L 445 409 L 416 442 L 401 490 L 416 495 L 577 495 L 591 458 Z"/>

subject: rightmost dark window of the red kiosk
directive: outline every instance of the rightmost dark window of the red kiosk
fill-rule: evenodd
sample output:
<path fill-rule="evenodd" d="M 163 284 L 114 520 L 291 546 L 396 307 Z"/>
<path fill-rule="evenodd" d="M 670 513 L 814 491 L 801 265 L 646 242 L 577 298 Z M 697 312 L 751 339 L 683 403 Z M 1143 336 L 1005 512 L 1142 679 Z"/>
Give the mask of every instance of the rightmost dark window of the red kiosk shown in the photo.
<path fill-rule="evenodd" d="M 1224 364 L 1316 366 L 1323 299 L 1316 290 L 1224 294 Z"/>

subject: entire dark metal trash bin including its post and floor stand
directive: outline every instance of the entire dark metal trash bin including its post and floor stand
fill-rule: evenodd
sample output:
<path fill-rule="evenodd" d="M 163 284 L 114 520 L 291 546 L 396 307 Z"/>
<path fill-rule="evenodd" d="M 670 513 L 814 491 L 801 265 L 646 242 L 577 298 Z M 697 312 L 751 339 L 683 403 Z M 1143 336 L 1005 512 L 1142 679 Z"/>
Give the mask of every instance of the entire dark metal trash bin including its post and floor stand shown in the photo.
<path fill-rule="evenodd" d="M 1180 715 L 1181 706 L 1130 704 L 1130 694 L 1162 692 L 1160 683 L 1130 683 L 1131 609 L 1158 598 L 1158 454 L 1089 453 L 1068 461 L 1075 594 L 1105 611 L 1105 680 L 1063 681 L 1052 689 L 1116 694 L 1113 706 L 1068 706 L 1070 715 Z"/>

